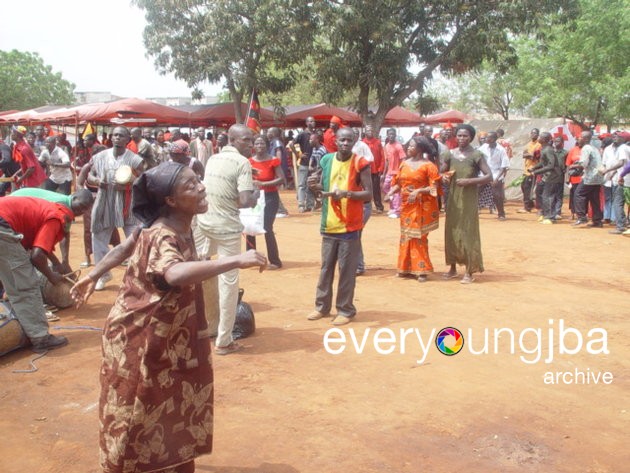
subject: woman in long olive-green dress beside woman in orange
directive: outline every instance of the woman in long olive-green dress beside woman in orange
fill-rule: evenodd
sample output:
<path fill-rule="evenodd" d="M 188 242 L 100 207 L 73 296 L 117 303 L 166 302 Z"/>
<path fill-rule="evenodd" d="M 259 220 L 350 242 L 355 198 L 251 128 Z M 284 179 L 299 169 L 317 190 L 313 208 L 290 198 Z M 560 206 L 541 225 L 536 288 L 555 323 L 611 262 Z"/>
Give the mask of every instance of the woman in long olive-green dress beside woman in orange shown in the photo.
<path fill-rule="evenodd" d="M 450 269 L 444 278 L 457 277 L 456 265 L 463 264 L 466 272 L 461 283 L 470 284 L 474 273 L 483 272 L 477 189 L 492 181 L 492 173 L 483 153 L 471 145 L 475 129 L 459 125 L 455 136 L 458 147 L 446 154 L 441 168 L 442 173 L 450 171 L 443 176 L 443 179 L 450 178 L 444 230 L 446 264 Z"/>

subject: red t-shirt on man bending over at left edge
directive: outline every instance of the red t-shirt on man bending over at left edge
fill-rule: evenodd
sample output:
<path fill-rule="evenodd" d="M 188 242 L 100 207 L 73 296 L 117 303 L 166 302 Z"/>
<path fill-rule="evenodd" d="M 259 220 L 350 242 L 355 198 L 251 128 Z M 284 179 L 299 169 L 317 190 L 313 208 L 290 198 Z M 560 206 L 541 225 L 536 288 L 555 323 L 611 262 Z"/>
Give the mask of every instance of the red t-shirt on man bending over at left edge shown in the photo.
<path fill-rule="evenodd" d="M 51 253 L 66 235 L 74 214 L 64 205 L 44 199 L 8 196 L 0 199 L 0 217 L 24 235 L 21 243 L 26 250 L 37 247 Z"/>

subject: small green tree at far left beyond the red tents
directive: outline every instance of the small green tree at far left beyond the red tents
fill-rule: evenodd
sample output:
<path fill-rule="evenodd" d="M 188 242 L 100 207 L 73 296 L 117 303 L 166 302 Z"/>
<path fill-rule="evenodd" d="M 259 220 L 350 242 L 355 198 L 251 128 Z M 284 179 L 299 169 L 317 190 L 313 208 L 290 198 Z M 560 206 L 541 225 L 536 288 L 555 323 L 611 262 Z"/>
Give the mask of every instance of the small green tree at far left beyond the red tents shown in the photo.
<path fill-rule="evenodd" d="M 0 51 L 0 110 L 74 103 L 74 84 L 44 64 L 37 53 Z"/>

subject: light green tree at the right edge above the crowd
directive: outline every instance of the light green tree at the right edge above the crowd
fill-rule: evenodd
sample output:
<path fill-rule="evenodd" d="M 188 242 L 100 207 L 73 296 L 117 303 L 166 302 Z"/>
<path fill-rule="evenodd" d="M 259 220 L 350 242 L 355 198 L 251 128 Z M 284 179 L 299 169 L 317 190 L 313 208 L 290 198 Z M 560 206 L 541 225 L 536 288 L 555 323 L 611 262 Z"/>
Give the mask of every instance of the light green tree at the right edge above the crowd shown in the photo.
<path fill-rule="evenodd" d="M 630 118 L 630 9 L 627 0 L 580 0 L 580 14 L 544 38 L 518 43 L 520 97 L 537 116 L 582 127 Z M 518 97 L 517 97 L 518 98 Z"/>

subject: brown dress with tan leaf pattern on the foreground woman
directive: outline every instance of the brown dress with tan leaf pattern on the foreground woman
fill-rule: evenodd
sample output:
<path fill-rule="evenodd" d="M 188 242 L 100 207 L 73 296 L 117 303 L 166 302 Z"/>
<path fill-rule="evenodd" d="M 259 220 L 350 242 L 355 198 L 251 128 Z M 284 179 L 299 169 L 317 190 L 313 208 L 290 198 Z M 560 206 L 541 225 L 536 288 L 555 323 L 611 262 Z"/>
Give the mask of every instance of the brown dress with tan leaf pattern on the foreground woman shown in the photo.
<path fill-rule="evenodd" d="M 103 334 L 100 448 L 105 473 L 149 472 L 212 451 L 213 371 L 200 285 L 170 287 L 196 260 L 192 235 L 143 230 Z"/>

